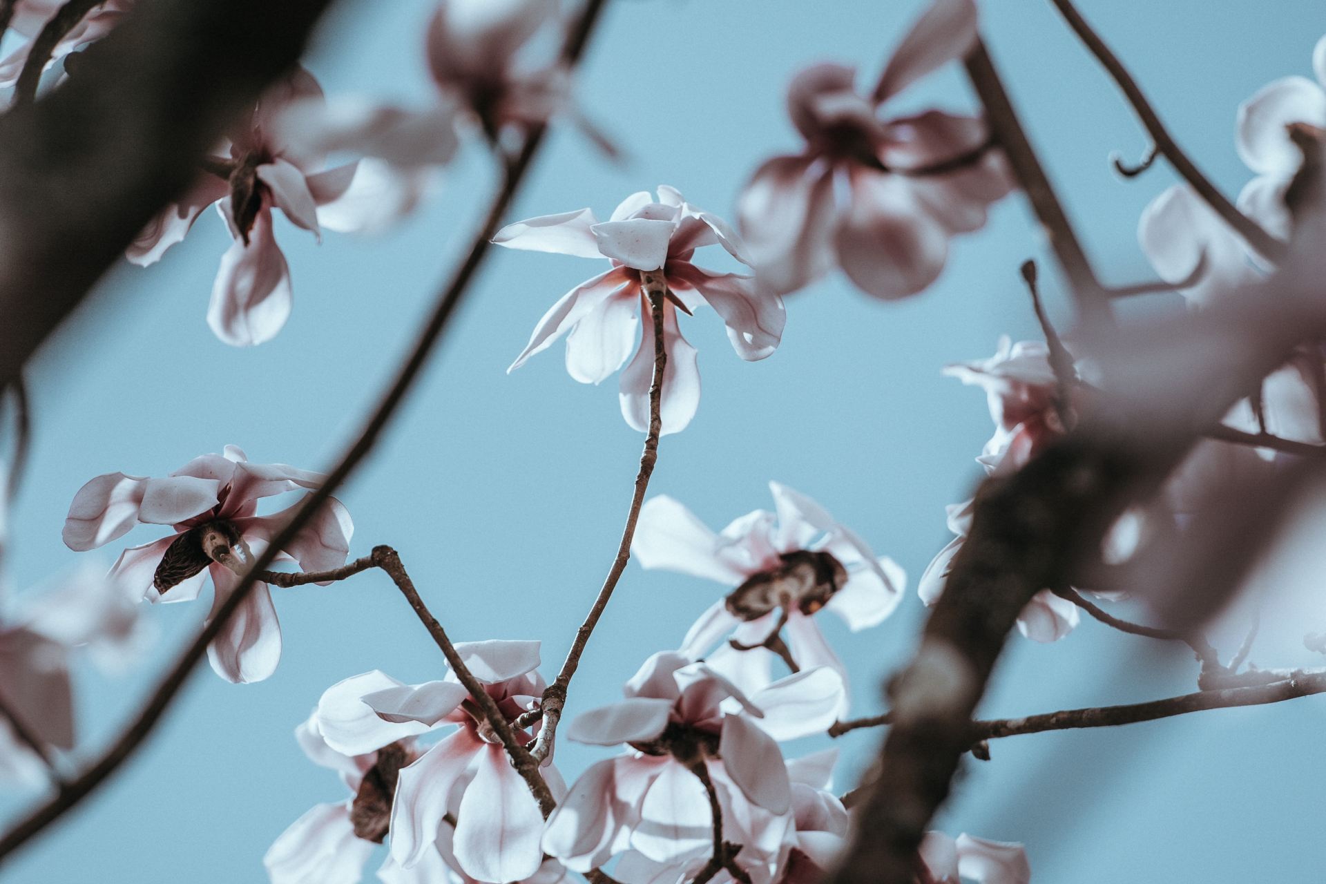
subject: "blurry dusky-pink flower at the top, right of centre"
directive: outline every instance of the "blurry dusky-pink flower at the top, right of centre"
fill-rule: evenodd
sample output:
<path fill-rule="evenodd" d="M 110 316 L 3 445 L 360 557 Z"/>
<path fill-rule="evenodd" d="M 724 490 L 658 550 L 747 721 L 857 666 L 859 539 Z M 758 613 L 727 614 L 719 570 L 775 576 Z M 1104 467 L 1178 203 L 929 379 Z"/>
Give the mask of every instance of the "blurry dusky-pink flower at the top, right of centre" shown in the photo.
<path fill-rule="evenodd" d="M 943 270 L 949 237 L 985 224 L 987 207 L 1013 187 L 1002 155 L 981 151 L 985 123 L 939 110 L 876 115 L 975 40 L 973 0 L 935 0 L 869 98 L 855 91 L 851 68 L 797 74 L 788 111 L 806 146 L 760 166 L 737 203 L 762 282 L 786 294 L 841 266 L 867 294 L 915 294 Z M 927 172 L 949 163 L 957 168 Z"/>

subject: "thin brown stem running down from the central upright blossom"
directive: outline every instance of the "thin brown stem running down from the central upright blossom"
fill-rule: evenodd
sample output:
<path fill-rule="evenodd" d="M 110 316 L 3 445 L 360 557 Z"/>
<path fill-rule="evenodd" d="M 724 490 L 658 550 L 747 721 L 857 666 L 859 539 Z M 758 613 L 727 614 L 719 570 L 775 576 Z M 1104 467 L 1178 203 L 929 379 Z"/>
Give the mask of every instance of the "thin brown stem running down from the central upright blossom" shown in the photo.
<path fill-rule="evenodd" d="M 557 725 L 562 720 L 562 709 L 566 705 L 566 689 L 570 687 L 572 677 L 579 667 L 585 645 L 589 644 L 589 637 L 594 634 L 598 619 L 603 616 L 603 610 L 607 607 L 609 599 L 613 598 L 613 590 L 617 588 L 617 583 L 622 578 L 622 571 L 626 570 L 626 563 L 631 558 L 631 539 L 635 537 L 635 524 L 640 518 L 644 492 L 650 486 L 650 476 L 654 474 L 654 465 L 659 457 L 659 436 L 663 431 L 663 372 L 667 368 L 667 350 L 663 346 L 663 302 L 667 297 L 667 281 L 663 278 L 662 270 L 643 273 L 640 288 L 648 300 L 650 317 L 654 321 L 654 379 L 650 383 L 650 428 L 644 436 L 644 449 L 640 452 L 640 468 L 635 473 L 635 490 L 631 493 L 631 505 L 626 510 L 626 525 L 622 527 L 622 539 L 617 545 L 617 558 L 613 559 L 613 566 L 609 569 L 607 577 L 603 579 L 603 586 L 599 588 L 594 604 L 585 616 L 585 622 L 575 631 L 575 639 L 572 641 L 572 649 L 566 653 L 561 672 L 557 673 L 557 679 L 544 692 L 544 701 L 541 704 L 544 708 L 544 726 L 538 732 L 538 741 L 534 745 L 534 757 L 538 761 L 548 758 L 553 753 L 557 741 Z"/>

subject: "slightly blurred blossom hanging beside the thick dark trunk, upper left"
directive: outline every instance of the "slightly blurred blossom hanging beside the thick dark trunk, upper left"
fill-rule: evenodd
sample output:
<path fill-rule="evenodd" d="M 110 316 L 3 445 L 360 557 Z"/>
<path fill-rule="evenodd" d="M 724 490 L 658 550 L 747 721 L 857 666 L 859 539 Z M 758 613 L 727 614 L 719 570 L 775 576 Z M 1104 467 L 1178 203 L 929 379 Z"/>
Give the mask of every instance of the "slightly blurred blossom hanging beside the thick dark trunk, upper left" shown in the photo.
<path fill-rule="evenodd" d="M 290 268 L 276 243 L 273 209 L 321 237 L 322 228 L 378 229 L 419 196 L 418 182 L 391 174 L 381 160 L 325 168 L 325 151 L 282 137 L 277 121 L 293 103 L 309 101 L 322 102 L 322 87 L 302 69 L 268 90 L 231 131 L 229 158 L 213 158 L 215 168 L 158 215 L 127 252 L 134 264 L 158 261 L 215 204 L 235 243 L 221 256 L 207 322 L 236 347 L 271 341 L 290 315 Z"/>

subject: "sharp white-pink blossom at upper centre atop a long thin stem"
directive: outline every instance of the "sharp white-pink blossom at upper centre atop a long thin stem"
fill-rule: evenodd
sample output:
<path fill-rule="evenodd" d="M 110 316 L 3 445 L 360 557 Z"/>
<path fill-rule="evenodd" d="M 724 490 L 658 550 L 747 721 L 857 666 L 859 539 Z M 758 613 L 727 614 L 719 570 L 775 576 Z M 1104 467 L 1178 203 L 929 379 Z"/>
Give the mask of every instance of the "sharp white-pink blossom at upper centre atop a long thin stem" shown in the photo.
<path fill-rule="evenodd" d="M 678 310 L 690 315 L 704 304 L 713 307 L 743 359 L 764 359 L 782 337 L 786 315 L 778 296 L 757 289 L 748 276 L 716 273 L 691 262 L 695 249 L 712 244 L 721 245 L 743 264 L 749 260 L 741 240 L 723 219 L 691 205 L 667 186 L 659 187 L 658 200 L 647 191 L 633 193 L 603 223 L 587 208 L 545 215 L 508 224 L 493 243 L 611 261 L 610 270 L 579 284 L 544 314 L 508 371 L 568 335 L 566 371 L 581 383 L 601 383 L 631 355 L 636 315 L 642 315 L 640 346 L 621 378 L 622 415 L 642 432 L 650 423 L 654 376 L 654 318 L 642 290 L 642 274 L 662 276 L 668 290 L 663 302 L 664 433 L 683 429 L 700 404 L 695 347 L 682 337 Z"/>

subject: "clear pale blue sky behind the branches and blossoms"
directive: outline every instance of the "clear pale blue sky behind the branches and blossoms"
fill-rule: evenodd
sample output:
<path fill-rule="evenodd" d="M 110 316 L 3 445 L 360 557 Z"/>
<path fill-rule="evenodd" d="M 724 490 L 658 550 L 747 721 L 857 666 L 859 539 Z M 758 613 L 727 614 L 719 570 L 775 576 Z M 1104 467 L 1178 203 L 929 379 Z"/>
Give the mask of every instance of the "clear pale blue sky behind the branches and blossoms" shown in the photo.
<path fill-rule="evenodd" d="M 1231 192 L 1248 178 L 1232 143 L 1237 102 L 1278 76 L 1309 74 L 1326 30 L 1315 0 L 1083 5 Z M 329 91 L 422 99 L 431 87 L 422 66 L 427 8 L 346 4 L 309 64 Z M 582 205 L 603 215 L 660 182 L 731 217 L 754 164 L 798 144 L 782 109 L 792 73 L 834 58 L 873 76 L 918 8 L 911 0 L 611 3 L 579 95 L 630 163 L 607 166 L 574 131 L 558 130 L 513 217 Z M 984 12 L 996 60 L 1090 250 L 1110 280 L 1144 278 L 1136 219 L 1170 174 L 1124 183 L 1110 171 L 1110 150 L 1136 156 L 1144 138 L 1048 4 L 992 0 Z M 969 105 L 957 70 L 906 101 L 935 98 Z M 391 236 L 329 235 L 318 247 L 282 223 L 294 314 L 256 350 L 219 343 L 204 323 L 227 247 L 216 217 L 204 217 L 159 266 L 117 268 L 33 366 L 34 452 L 8 563 L 17 584 L 78 561 L 60 527 L 73 493 L 97 473 L 162 474 L 227 443 L 259 461 L 328 464 L 412 338 L 492 180 L 471 146 L 440 195 Z M 981 395 L 939 370 L 988 355 L 1001 333 L 1034 334 L 1016 269 L 1038 249 L 1022 200 L 1008 200 L 983 233 L 956 243 L 943 278 L 922 297 L 878 304 L 834 277 L 789 301 L 784 346 L 761 363 L 732 354 L 712 313 L 687 321 L 704 398 L 695 423 L 663 440 L 651 490 L 720 526 L 768 506 L 765 482 L 777 478 L 895 557 L 914 586 L 947 542 L 943 506 L 968 493 L 979 476 L 972 457 L 989 435 Z M 493 254 L 400 419 L 342 493 L 355 554 L 395 545 L 456 639 L 542 639 L 545 671 L 556 669 L 609 566 L 640 436 L 618 414 L 615 379 L 575 384 L 560 347 L 513 376 L 504 370 L 548 305 L 594 272 L 569 257 Z M 1050 288 L 1063 315 L 1053 280 Z M 572 712 L 615 697 L 717 591 L 630 566 L 590 644 Z M 276 676 L 235 687 L 200 671 L 146 750 L 9 863 L 5 880 L 265 880 L 260 857 L 272 839 L 312 804 L 343 797 L 290 736 L 322 689 L 370 668 L 406 681 L 442 673 L 436 648 L 381 575 L 280 591 L 277 607 L 285 656 Z M 80 681 L 89 746 L 135 706 L 206 610 L 200 602 L 149 611 L 164 637 L 134 676 Z M 822 620 L 857 673 L 858 713 L 879 709 L 876 685 L 910 651 L 920 616 L 908 588 L 899 612 L 874 631 L 851 636 Z M 1014 637 L 984 710 L 1159 697 L 1191 689 L 1192 675 L 1172 649 L 1087 623 L 1057 645 Z M 1326 701 L 1302 700 L 1002 741 L 992 762 L 968 766 L 939 822 L 955 835 L 1025 842 L 1045 883 L 1322 880 L 1323 725 Z M 839 786 L 854 783 L 878 736 L 838 742 Z M 562 750 L 568 778 L 601 757 Z M 3 807 L 16 812 L 19 802 Z"/>

